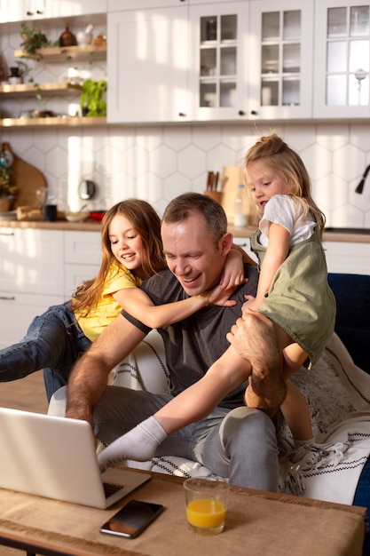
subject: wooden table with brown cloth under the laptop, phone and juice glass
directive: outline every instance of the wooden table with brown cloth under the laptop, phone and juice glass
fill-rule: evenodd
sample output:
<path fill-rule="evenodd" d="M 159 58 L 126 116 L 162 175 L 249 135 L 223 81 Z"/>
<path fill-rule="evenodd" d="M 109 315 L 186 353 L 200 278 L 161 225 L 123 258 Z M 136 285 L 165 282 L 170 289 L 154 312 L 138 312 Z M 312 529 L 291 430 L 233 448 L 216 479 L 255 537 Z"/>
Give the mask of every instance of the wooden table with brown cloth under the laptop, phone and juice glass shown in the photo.
<path fill-rule="evenodd" d="M 151 481 L 108 510 L 3 489 L 0 544 L 50 556 L 362 554 L 365 508 L 247 488 L 231 488 L 223 533 L 197 535 L 186 525 L 183 481 L 153 473 Z M 101 534 L 99 526 L 130 498 L 163 504 L 165 511 L 136 539 Z"/>

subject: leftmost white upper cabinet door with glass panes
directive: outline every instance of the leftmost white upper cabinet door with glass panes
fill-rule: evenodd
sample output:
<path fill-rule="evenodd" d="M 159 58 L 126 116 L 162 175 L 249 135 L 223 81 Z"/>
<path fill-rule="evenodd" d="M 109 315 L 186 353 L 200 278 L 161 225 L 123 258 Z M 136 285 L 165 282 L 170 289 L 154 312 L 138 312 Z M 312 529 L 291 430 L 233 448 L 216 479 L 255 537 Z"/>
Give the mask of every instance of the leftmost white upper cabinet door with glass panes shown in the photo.
<path fill-rule="evenodd" d="M 248 2 L 191 5 L 189 25 L 193 118 L 246 118 Z"/>

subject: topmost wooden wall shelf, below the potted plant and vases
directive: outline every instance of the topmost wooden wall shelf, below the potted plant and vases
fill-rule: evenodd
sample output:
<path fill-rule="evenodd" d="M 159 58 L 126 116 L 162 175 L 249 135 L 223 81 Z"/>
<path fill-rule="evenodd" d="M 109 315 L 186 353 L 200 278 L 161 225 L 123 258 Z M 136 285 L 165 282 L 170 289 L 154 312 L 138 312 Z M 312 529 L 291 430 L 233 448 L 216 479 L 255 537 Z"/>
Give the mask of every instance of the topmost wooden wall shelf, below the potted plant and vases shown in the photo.
<path fill-rule="evenodd" d="M 90 61 L 106 59 L 106 44 L 98 46 L 90 44 L 88 46 L 52 46 L 51 48 L 40 48 L 37 51 L 43 60 L 49 62 Z M 27 52 L 14 51 L 14 58 L 32 58 Z"/>

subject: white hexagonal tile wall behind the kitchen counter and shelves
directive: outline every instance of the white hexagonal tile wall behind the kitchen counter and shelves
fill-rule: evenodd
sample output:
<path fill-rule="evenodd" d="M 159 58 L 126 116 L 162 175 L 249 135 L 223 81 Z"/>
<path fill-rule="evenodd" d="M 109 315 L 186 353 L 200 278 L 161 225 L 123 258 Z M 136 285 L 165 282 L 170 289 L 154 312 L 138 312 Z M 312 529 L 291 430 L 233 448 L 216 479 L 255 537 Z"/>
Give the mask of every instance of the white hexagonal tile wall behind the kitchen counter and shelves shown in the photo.
<path fill-rule="evenodd" d="M 61 29 L 63 30 L 63 29 Z M 76 32 L 78 29 L 74 29 Z M 20 36 L 2 33 L 0 45 L 8 66 Z M 53 67 L 49 80 L 62 77 L 63 64 Z M 91 70 L 91 68 L 90 68 Z M 47 81 L 38 65 L 39 81 Z M 104 76 L 104 64 L 94 65 L 94 76 Z M 77 99 L 73 99 L 78 102 Z M 13 102 L 13 101 L 12 101 Z M 29 106 L 30 99 L 24 101 Z M 35 107 L 35 100 L 31 99 Z M 61 99 L 51 99 L 59 106 Z M 27 104 L 28 103 L 28 104 Z M 58 105 L 59 103 L 59 105 Z M 9 106 L 2 100 L 1 109 Z M 106 209 L 122 198 L 138 196 L 161 213 L 169 200 L 185 191 L 203 192 L 207 171 L 238 165 L 257 136 L 271 131 L 264 123 L 104 128 L 0 128 L 1 139 L 43 172 L 59 205 L 78 208 L 77 188 L 82 179 L 98 185 L 91 208 Z M 313 197 L 327 215 L 328 226 L 370 228 L 370 175 L 364 193 L 355 189 L 370 163 L 370 133 L 366 123 L 284 123 L 275 128 L 302 156 L 311 175 Z"/>

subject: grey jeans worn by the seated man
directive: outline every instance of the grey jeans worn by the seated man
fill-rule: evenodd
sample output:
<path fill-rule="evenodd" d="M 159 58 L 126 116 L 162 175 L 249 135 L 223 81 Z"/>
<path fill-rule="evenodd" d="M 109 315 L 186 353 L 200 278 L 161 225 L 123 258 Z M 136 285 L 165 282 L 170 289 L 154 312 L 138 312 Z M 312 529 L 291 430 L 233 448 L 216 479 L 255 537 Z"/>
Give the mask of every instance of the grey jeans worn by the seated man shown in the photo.
<path fill-rule="evenodd" d="M 94 409 L 98 440 L 108 445 L 153 415 L 173 396 L 108 386 Z M 171 434 L 156 456 L 185 457 L 229 477 L 232 485 L 276 491 L 279 464 L 275 427 L 258 409 L 217 407 L 198 423 Z"/>

